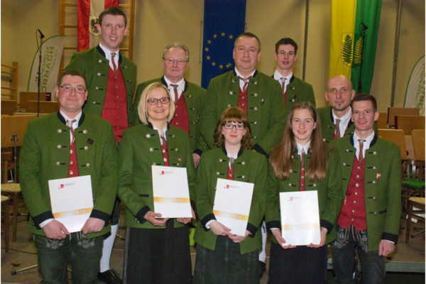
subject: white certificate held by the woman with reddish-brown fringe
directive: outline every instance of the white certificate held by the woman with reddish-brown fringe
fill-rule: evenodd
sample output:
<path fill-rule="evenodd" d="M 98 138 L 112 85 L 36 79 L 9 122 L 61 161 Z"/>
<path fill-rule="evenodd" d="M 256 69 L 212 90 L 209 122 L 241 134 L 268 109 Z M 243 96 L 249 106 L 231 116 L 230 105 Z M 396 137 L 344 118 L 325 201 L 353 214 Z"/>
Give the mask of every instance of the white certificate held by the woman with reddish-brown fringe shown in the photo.
<path fill-rule="evenodd" d="M 253 187 L 254 184 L 250 182 L 217 179 L 213 214 L 234 235 L 246 235 Z"/>

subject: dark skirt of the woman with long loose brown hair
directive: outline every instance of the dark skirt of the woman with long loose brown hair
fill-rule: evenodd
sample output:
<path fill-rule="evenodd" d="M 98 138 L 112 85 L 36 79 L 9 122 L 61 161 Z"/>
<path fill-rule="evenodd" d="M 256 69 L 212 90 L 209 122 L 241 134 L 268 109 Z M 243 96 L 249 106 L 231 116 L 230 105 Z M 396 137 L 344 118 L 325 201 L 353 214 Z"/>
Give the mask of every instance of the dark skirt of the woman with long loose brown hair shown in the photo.
<path fill-rule="evenodd" d="M 268 284 L 325 284 L 327 280 L 327 245 L 318 249 L 297 246 L 283 249 L 271 242 Z"/>

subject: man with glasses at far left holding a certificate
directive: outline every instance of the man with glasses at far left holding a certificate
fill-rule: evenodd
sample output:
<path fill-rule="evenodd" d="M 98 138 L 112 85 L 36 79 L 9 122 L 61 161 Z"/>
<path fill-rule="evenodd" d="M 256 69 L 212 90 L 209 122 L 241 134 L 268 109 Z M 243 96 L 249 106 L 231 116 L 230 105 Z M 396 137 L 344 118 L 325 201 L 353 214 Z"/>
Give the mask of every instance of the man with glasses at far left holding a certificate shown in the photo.
<path fill-rule="evenodd" d="M 66 70 L 55 95 L 60 110 L 30 121 L 21 151 L 21 187 L 38 251 L 42 283 L 66 283 L 67 263 L 73 283 L 96 283 L 104 234 L 118 181 L 114 134 L 108 121 L 84 114 L 84 75 Z M 49 180 L 89 175 L 93 209 L 81 231 L 71 233 L 55 219 Z"/>

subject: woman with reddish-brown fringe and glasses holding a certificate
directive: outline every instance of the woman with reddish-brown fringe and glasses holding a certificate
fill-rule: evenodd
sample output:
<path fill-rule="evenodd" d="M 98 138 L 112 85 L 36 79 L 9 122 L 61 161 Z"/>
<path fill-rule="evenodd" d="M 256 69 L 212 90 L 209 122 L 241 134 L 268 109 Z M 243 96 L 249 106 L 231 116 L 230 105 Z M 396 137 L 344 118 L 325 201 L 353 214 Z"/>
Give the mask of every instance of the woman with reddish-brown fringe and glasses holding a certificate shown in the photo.
<path fill-rule="evenodd" d="M 194 283 L 259 283 L 260 225 L 266 207 L 266 158 L 251 150 L 250 124 L 242 109 L 229 107 L 217 121 L 215 146 L 202 154 L 197 172 Z M 217 179 L 254 183 L 244 236 L 217 222 L 213 213 Z M 238 200 L 236 200 L 238 202 Z"/>

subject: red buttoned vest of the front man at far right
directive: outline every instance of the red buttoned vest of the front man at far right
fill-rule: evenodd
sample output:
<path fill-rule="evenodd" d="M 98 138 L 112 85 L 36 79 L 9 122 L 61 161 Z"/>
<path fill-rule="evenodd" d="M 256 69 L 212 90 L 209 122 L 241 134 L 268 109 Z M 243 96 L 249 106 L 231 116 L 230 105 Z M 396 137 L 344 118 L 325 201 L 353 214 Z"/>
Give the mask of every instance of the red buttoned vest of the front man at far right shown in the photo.
<path fill-rule="evenodd" d="M 354 225 L 357 231 L 367 229 L 366 203 L 364 192 L 364 161 L 361 162 L 354 157 L 354 168 L 352 168 L 351 180 L 340 212 L 337 224 L 343 229 Z"/>

